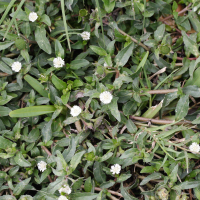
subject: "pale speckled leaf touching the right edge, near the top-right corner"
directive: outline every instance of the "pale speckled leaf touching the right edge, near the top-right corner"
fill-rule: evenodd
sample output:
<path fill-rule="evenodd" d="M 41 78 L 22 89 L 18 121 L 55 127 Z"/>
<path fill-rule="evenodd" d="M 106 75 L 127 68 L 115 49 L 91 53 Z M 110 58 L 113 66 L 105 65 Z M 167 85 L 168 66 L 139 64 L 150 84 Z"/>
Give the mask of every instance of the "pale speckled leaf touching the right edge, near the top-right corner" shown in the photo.
<path fill-rule="evenodd" d="M 185 31 L 181 31 L 183 36 L 183 41 L 186 46 L 186 48 L 196 57 L 199 56 L 199 47 L 196 42 L 194 42 L 192 39 L 190 39 Z"/>

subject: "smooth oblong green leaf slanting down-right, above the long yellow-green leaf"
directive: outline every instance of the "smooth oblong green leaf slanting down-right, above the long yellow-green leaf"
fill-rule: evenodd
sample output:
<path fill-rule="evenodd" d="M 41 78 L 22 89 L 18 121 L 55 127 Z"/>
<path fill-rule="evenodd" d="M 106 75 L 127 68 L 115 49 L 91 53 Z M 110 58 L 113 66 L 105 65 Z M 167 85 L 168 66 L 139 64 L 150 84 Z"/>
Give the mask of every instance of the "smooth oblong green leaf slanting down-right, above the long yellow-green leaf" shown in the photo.
<path fill-rule="evenodd" d="M 30 75 L 26 75 L 24 79 L 43 97 L 48 97 L 48 92 L 44 89 L 44 86 L 35 78 Z"/>

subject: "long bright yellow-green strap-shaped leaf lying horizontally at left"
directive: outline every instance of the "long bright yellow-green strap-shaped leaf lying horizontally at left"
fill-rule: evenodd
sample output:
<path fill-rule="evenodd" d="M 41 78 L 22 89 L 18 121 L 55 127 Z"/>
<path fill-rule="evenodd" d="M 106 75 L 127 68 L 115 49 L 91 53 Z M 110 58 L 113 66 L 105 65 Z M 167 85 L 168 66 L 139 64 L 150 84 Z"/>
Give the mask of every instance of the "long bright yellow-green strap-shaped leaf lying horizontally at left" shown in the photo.
<path fill-rule="evenodd" d="M 52 105 L 31 106 L 31 107 L 13 110 L 12 112 L 10 112 L 9 115 L 10 117 L 33 117 L 33 116 L 52 113 L 55 110 L 56 108 Z"/>

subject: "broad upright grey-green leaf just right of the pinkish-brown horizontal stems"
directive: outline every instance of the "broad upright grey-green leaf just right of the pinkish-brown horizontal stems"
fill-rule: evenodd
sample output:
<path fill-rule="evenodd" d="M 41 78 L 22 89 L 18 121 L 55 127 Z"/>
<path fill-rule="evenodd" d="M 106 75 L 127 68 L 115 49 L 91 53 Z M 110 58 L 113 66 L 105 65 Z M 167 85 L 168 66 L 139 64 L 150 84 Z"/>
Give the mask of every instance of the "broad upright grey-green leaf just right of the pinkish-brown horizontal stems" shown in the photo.
<path fill-rule="evenodd" d="M 189 96 L 184 95 L 179 99 L 177 103 L 177 106 L 175 109 L 175 112 L 176 112 L 175 119 L 176 120 L 183 119 L 187 115 L 188 109 L 189 109 Z"/>

